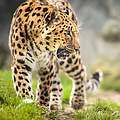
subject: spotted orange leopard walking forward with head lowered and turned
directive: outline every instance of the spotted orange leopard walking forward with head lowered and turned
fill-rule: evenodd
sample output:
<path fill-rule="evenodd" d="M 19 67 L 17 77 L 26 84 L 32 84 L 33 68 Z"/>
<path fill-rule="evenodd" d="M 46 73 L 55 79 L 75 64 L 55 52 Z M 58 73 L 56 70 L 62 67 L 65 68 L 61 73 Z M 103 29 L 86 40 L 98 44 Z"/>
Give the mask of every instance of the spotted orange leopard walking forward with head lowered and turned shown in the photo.
<path fill-rule="evenodd" d="M 81 60 L 77 16 L 67 0 L 26 0 L 13 14 L 9 48 L 17 96 L 49 110 L 62 109 L 62 70 L 73 81 L 70 106 L 82 109 L 86 93 L 96 91 L 102 71 L 87 79 Z M 33 71 L 38 75 L 36 98 Z"/>

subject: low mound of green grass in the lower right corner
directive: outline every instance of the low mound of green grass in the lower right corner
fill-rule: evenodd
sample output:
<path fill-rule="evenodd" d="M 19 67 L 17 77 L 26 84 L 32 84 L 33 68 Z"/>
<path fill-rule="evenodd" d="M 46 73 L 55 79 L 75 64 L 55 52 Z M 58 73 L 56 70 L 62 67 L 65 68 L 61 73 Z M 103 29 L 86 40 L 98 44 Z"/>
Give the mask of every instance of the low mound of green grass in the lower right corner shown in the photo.
<path fill-rule="evenodd" d="M 120 120 L 120 107 L 114 103 L 98 101 L 92 108 L 79 112 L 76 120 Z"/>

